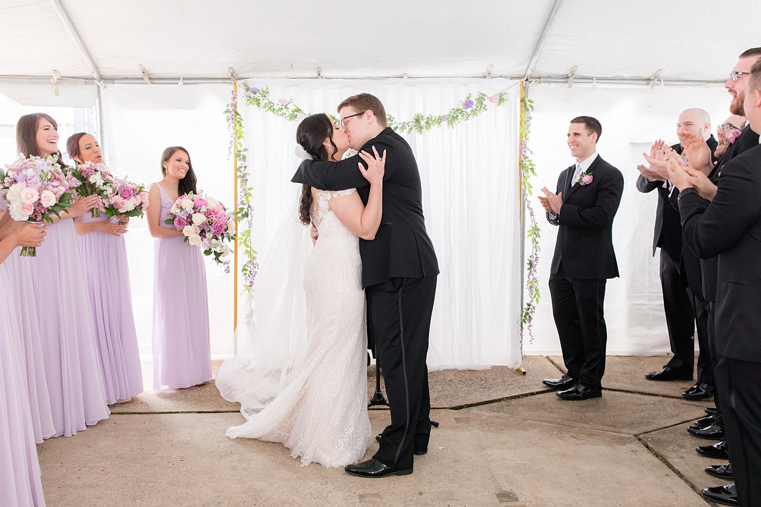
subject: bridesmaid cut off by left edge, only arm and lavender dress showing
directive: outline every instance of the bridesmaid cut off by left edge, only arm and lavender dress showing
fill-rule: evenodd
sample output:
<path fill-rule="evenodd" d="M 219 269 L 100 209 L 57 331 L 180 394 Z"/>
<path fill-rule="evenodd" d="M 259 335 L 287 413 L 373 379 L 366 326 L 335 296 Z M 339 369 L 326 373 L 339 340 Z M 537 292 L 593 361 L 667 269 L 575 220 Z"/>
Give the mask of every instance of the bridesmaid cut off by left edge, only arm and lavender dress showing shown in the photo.
<path fill-rule="evenodd" d="M 0 263 L 18 255 L 18 246 L 39 247 L 45 228 L 30 223 L 13 228 L 0 241 Z M 40 463 L 34 445 L 32 412 L 27 393 L 24 347 L 19 316 L 9 308 L 13 289 L 5 263 L 0 265 L 0 505 L 45 505 Z"/>

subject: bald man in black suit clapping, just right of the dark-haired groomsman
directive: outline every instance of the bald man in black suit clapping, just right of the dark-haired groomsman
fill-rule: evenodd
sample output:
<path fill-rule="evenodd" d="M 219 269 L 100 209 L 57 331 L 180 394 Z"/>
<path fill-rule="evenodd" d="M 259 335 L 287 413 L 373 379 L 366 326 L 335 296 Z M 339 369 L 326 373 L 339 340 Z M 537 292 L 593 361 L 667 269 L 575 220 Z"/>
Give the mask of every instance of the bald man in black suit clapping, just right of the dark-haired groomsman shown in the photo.
<path fill-rule="evenodd" d="M 677 119 L 677 136 L 689 132 L 700 136 L 712 150 L 718 142 L 711 134 L 711 117 L 705 110 L 692 107 L 683 110 Z M 670 147 L 681 154 L 681 144 Z M 653 145 L 649 166 L 640 165 L 637 190 L 648 193 L 658 190 L 658 209 L 655 214 L 653 254 L 661 248 L 661 289 L 669 341 L 673 357 L 661 370 L 651 371 L 645 378 L 653 381 L 692 380 L 695 364 L 694 332 L 697 322 L 701 354 L 698 359 L 698 381 L 682 395 L 689 399 L 712 397 L 714 393 L 713 368 L 708 355 L 708 303 L 702 293 L 702 276 L 699 258 L 682 247 L 682 225 L 679 211 L 670 202 L 673 186 L 669 183 L 664 166 L 667 150 L 662 141 Z"/>

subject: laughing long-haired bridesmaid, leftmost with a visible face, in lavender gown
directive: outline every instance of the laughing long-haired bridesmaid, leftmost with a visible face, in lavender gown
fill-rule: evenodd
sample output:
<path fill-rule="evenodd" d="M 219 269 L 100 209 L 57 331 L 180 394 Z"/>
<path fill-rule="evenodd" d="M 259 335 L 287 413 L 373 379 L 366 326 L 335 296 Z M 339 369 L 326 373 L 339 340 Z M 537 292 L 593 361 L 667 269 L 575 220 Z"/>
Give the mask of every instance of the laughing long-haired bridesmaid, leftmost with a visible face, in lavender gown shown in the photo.
<path fill-rule="evenodd" d="M 27 114 L 18 120 L 16 144 L 23 157 L 58 154 L 60 160 L 58 137 L 56 120 L 46 114 Z M 54 225 L 46 228 L 45 244 L 30 259 L 53 436 L 75 435 L 110 414 L 90 305 L 82 304 L 89 296 L 70 219 L 89 212 L 97 202 L 97 196 L 79 198 L 60 220 L 54 218 Z"/>

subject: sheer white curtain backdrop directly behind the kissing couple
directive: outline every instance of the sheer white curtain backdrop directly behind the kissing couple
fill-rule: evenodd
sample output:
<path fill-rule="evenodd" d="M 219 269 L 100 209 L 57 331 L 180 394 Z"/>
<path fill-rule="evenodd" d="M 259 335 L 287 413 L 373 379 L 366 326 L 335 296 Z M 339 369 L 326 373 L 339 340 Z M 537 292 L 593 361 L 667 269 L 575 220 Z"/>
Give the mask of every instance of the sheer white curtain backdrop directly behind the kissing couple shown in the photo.
<path fill-rule="evenodd" d="M 252 87 L 269 85 L 273 100 L 293 97 L 310 113 L 333 113 L 345 97 L 368 91 L 397 120 L 411 119 L 416 112 L 445 113 L 468 92 L 495 94 L 514 84 L 503 79 L 250 81 Z M 430 368 L 520 365 L 517 87 L 510 93 L 508 106 L 492 106 L 455 129 L 405 136 L 420 167 L 426 227 L 441 269 Z M 290 183 L 298 165 L 298 122 L 245 107 L 242 100 L 240 112 L 256 189 L 253 242 L 264 259 L 285 209 L 300 190 Z M 267 269 L 266 263 L 261 269 Z"/>

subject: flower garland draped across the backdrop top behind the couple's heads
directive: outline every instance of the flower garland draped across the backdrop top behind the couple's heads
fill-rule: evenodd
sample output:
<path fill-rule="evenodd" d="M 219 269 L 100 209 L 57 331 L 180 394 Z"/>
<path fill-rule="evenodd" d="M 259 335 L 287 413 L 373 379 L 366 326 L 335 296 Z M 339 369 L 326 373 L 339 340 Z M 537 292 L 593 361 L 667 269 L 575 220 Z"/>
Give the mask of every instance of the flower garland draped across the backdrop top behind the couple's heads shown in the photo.
<path fill-rule="evenodd" d="M 270 91 L 267 87 L 262 89 L 251 88 L 246 81 L 243 81 L 243 88 L 246 103 L 250 106 L 256 106 L 263 111 L 269 111 L 269 113 L 285 118 L 289 122 L 301 121 L 309 116 L 309 113 L 298 107 L 292 99 L 280 98 L 272 100 L 269 97 Z M 479 91 L 475 99 L 473 99 L 473 94 L 467 94 L 465 100 L 444 114 L 426 115 L 416 113 L 415 116 L 412 116 L 412 120 L 405 122 L 396 121 L 393 116 L 387 115 L 388 126 L 396 130 L 396 132 L 404 132 L 406 134 L 411 134 L 412 132 L 422 134 L 442 125 L 454 128 L 458 123 L 471 120 L 489 109 L 488 104 L 496 104 L 498 107 L 504 106 L 508 102 L 508 97 L 507 91 L 500 91 L 496 95 L 487 95 Z M 331 117 L 333 120 L 338 121 L 335 116 Z"/>

